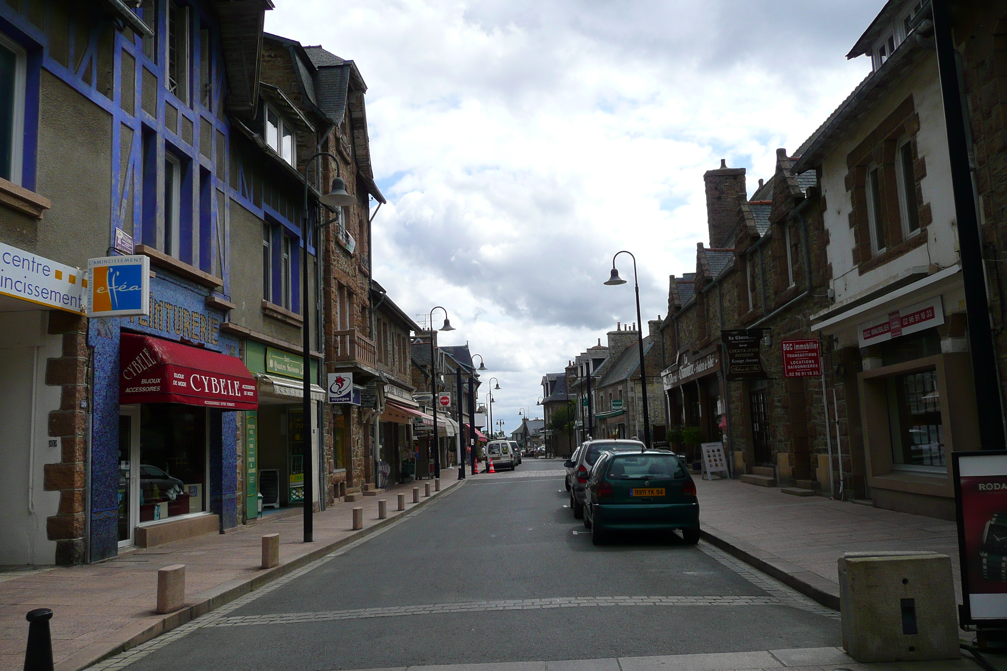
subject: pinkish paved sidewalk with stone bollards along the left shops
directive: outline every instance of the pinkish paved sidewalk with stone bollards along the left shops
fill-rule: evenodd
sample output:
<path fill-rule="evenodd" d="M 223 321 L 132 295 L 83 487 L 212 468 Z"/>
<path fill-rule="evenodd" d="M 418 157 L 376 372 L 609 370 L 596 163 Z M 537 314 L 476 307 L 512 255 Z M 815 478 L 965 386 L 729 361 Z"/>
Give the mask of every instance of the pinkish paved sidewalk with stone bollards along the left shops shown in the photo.
<path fill-rule="evenodd" d="M 77 671 L 168 632 L 220 608 L 333 548 L 352 542 L 394 522 L 411 510 L 451 491 L 461 481 L 455 469 L 442 471 L 441 491 L 424 480 L 395 485 L 378 496 L 337 503 L 314 514 L 314 542 L 303 538 L 303 516 L 294 515 L 240 526 L 228 533 L 207 534 L 147 549 L 138 549 L 101 563 L 55 567 L 42 571 L 4 573 L 0 581 L 0 671 L 24 664 L 28 637 L 25 614 L 50 608 L 52 655 L 56 671 Z M 424 497 L 429 482 L 430 498 Z M 412 488 L 420 503 L 412 503 Z M 399 493 L 406 510 L 397 510 Z M 388 501 L 388 518 L 378 519 L 378 501 Z M 364 508 L 364 530 L 352 530 L 352 509 Z M 280 534 L 280 565 L 262 569 L 262 536 Z M 157 615 L 157 570 L 185 564 L 185 608 Z"/>

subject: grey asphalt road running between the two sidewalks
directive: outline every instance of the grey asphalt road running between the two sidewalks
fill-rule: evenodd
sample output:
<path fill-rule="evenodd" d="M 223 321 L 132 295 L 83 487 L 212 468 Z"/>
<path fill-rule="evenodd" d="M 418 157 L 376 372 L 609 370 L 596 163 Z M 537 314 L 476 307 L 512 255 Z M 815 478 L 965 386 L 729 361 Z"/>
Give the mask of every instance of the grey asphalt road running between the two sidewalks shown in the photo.
<path fill-rule="evenodd" d="M 376 669 L 840 645 L 834 614 L 704 544 L 670 535 L 595 547 L 566 507 L 561 469 L 526 459 L 514 474 L 469 479 L 128 668 Z"/>

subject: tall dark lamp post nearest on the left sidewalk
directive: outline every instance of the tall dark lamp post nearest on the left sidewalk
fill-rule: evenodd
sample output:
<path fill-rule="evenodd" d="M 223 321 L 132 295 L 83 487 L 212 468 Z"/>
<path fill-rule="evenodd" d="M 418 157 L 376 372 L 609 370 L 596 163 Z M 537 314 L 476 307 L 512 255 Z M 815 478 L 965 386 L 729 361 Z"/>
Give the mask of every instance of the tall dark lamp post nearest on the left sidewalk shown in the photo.
<path fill-rule="evenodd" d="M 346 183 L 342 181 L 339 171 L 339 159 L 328 152 L 318 152 L 309 157 L 304 162 L 304 224 L 301 227 L 301 239 L 304 242 L 304 259 L 301 265 L 304 267 L 301 273 L 301 317 L 304 319 L 301 325 L 301 335 L 303 336 L 303 405 L 301 445 L 301 464 L 304 469 L 304 542 L 310 543 L 314 540 L 314 464 L 312 463 L 311 447 L 314 443 L 311 428 L 311 311 L 308 310 L 308 230 L 311 227 L 311 214 L 308 212 L 308 167 L 311 162 L 320 156 L 328 156 L 335 163 L 335 179 L 332 180 L 332 187 L 328 193 L 319 198 L 325 207 L 335 210 L 356 203 L 356 198 L 346 192 Z M 329 222 L 326 221 L 325 224 Z M 315 261 L 321 259 L 321 247 L 315 241 Z M 318 264 L 315 264 L 315 271 L 320 272 Z M 315 297 L 318 300 L 318 297 Z"/>

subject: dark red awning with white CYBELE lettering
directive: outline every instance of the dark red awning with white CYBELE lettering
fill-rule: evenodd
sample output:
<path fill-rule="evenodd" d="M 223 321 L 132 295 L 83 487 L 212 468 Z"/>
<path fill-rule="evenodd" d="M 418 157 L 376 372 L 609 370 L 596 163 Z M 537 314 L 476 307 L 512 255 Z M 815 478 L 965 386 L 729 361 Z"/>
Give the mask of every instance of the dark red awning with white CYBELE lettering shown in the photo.
<path fill-rule="evenodd" d="M 259 407 L 259 391 L 255 377 L 237 356 L 123 333 L 119 402 L 254 410 Z"/>

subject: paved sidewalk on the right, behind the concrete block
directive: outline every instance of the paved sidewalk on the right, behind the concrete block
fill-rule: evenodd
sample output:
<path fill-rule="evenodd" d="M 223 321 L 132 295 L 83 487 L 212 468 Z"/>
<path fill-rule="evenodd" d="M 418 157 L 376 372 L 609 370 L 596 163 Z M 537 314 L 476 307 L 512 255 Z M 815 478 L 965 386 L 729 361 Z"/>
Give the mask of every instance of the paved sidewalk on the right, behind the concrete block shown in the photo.
<path fill-rule="evenodd" d="M 932 550 L 952 557 L 961 603 L 955 522 L 823 496 L 799 497 L 778 487 L 697 477 L 701 535 L 759 570 L 839 610 L 836 560 L 844 552 Z"/>

